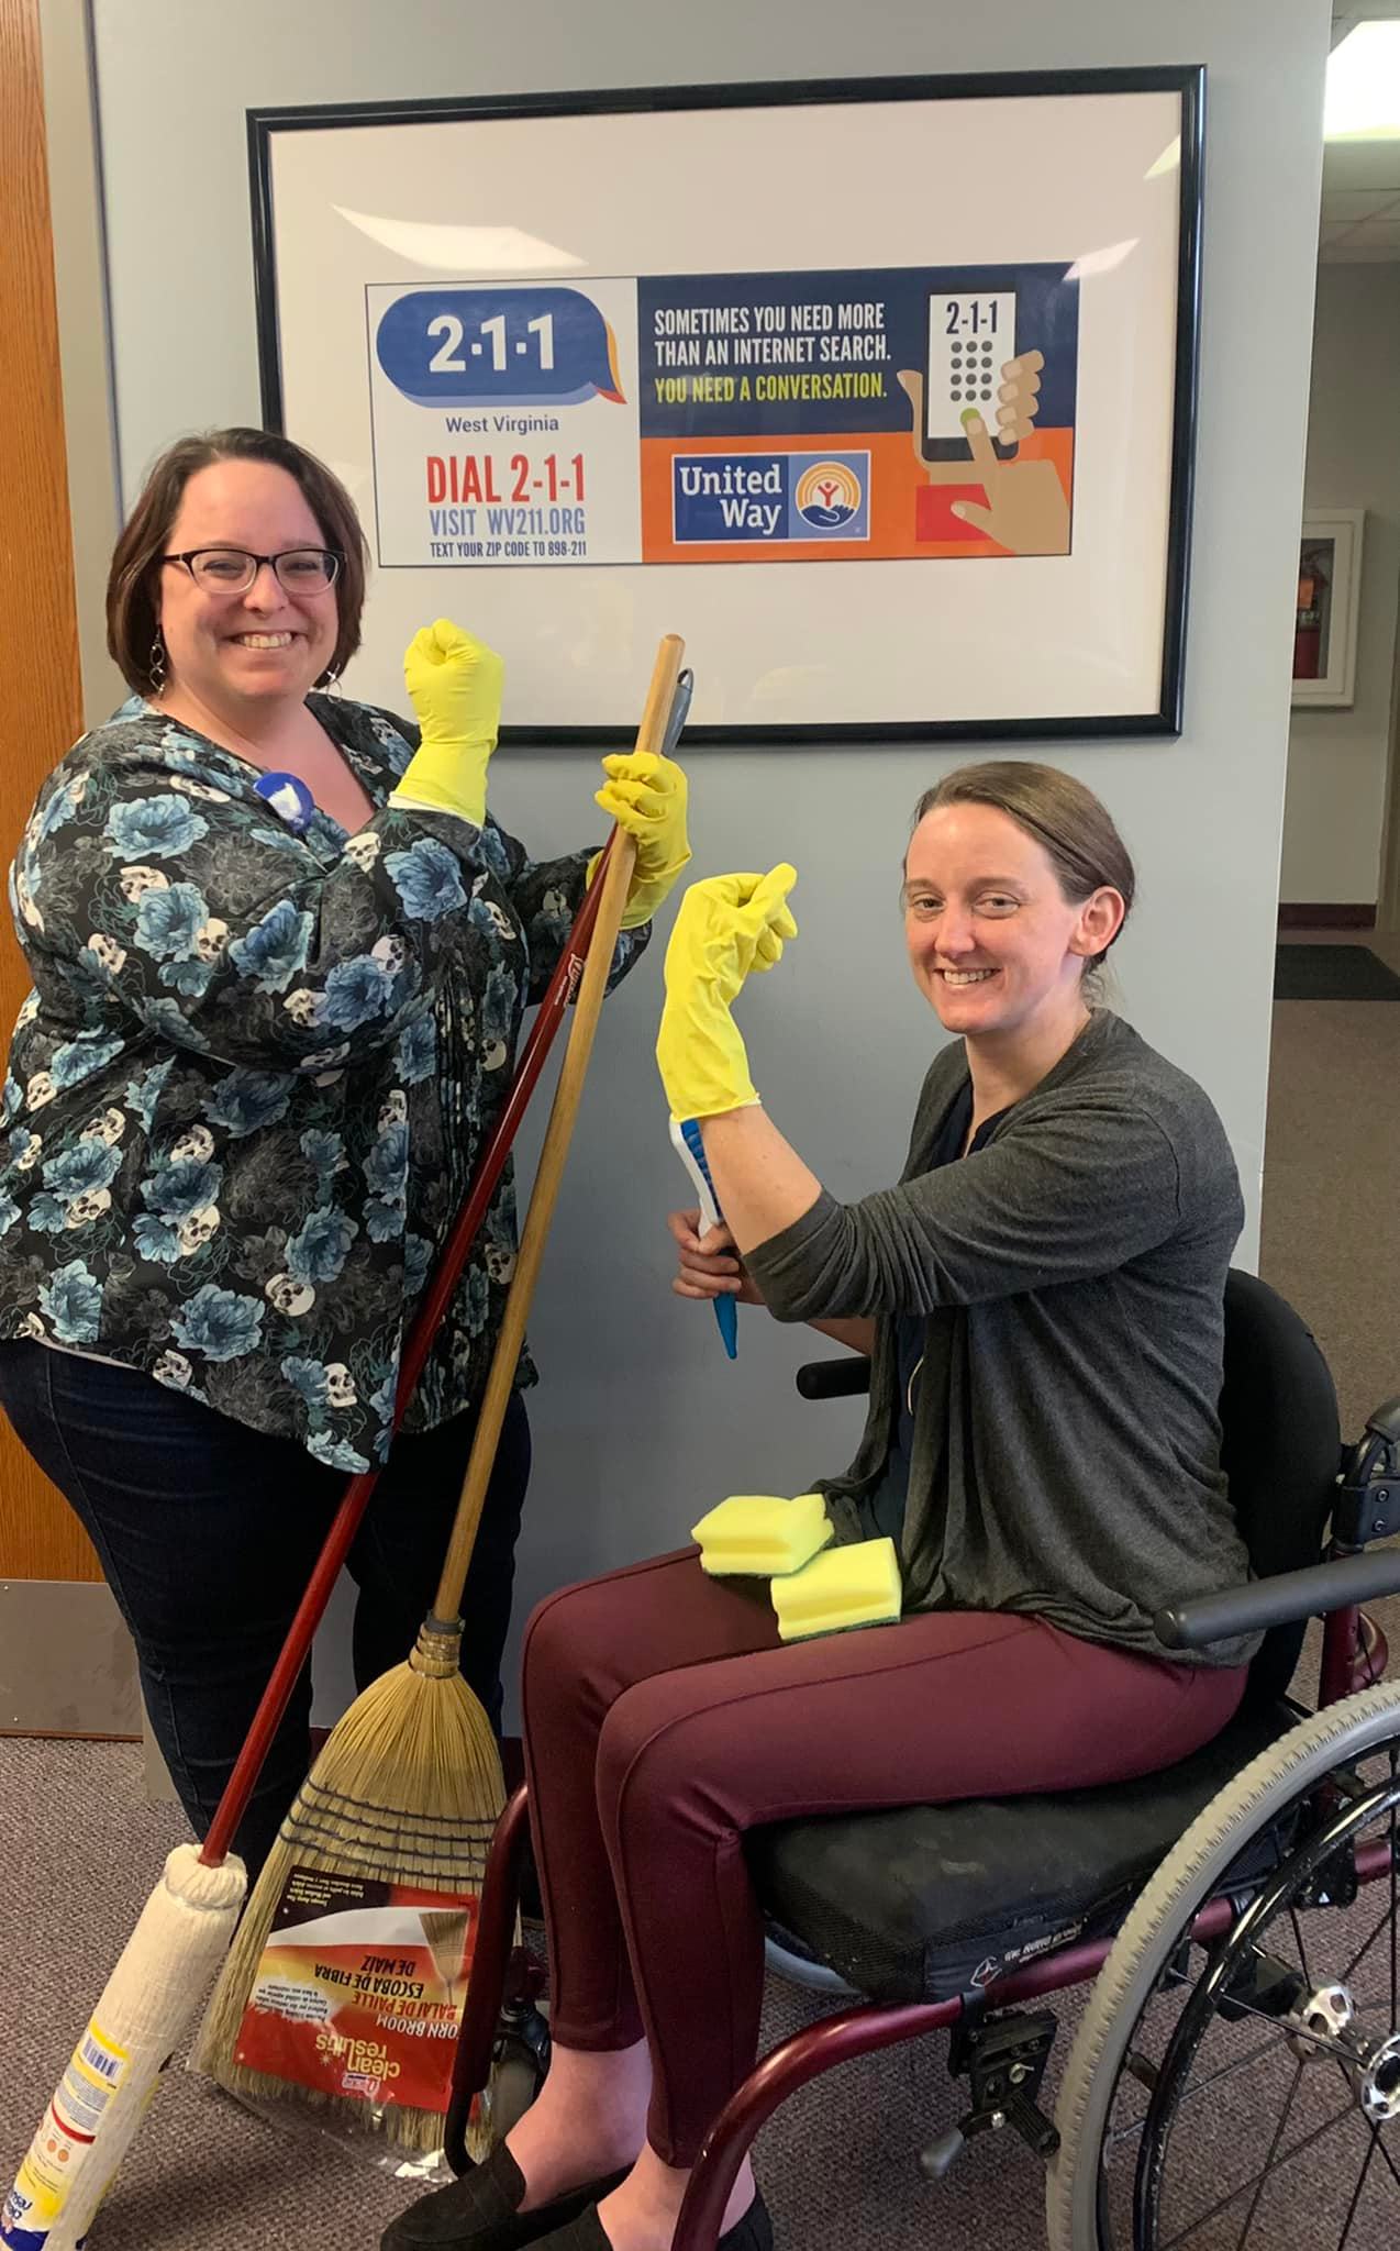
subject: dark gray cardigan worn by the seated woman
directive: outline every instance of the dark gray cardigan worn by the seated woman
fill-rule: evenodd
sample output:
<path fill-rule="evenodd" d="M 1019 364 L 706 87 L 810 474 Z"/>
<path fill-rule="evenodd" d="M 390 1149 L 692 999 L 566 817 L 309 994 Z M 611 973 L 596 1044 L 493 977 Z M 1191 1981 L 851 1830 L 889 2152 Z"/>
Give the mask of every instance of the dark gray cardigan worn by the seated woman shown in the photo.
<path fill-rule="evenodd" d="M 894 1319 L 923 1315 L 905 1612 L 1035 1612 L 1166 1657 L 1157 1607 L 1249 1576 L 1220 1470 L 1224 1274 L 1245 1216 L 1224 1128 L 1195 1080 L 1098 1011 L 981 1150 L 930 1173 L 966 1083 L 957 1042 L 923 1083 L 900 1184 L 858 1204 L 824 1191 L 747 1254 L 779 1321 L 876 1317 L 860 1452 L 817 1488 L 837 1540 L 862 1540 L 896 1429 Z"/>

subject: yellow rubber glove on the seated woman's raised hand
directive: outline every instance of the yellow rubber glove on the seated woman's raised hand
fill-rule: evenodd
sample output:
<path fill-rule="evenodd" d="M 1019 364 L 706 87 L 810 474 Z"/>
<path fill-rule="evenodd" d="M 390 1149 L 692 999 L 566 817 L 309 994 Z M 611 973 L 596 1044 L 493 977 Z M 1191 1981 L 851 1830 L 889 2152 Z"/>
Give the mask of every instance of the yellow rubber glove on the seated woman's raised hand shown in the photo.
<path fill-rule="evenodd" d="M 707 1119 L 759 1101 L 729 1008 L 745 977 L 770 970 L 797 936 L 788 912 L 795 882 L 797 869 L 781 862 L 768 876 L 709 876 L 682 898 L 666 948 L 657 1033 L 671 1116 Z"/>

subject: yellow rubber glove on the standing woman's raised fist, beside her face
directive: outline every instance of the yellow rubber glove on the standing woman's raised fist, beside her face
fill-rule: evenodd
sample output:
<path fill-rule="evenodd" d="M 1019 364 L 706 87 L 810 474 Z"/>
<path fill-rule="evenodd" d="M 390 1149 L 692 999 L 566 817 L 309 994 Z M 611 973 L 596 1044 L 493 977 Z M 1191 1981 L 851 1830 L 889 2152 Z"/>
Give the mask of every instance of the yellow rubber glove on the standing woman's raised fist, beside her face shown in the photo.
<path fill-rule="evenodd" d="M 482 826 L 504 671 L 495 651 L 450 617 L 414 633 L 403 653 L 403 682 L 419 716 L 421 743 L 389 792 L 392 806 L 455 813 Z"/>

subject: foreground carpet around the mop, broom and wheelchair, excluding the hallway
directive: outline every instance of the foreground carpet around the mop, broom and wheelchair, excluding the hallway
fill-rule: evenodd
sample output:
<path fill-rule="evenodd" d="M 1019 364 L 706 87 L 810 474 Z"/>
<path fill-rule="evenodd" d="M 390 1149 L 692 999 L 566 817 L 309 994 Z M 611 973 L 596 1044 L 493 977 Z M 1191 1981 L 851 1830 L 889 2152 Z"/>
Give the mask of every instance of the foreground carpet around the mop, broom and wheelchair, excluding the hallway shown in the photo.
<path fill-rule="evenodd" d="M 0 1884 L 5 2172 L 131 1934 L 178 1812 L 140 1803 L 140 1754 L 115 1745 L 0 1740 L 0 1803 L 20 1850 Z M 79 1844 L 81 1839 L 81 1844 Z M 774 1990 L 765 2046 L 817 2010 Z M 1076 2008 L 1067 2008 L 1067 2033 Z M 981 2143 L 941 2188 L 916 2152 L 957 2123 L 943 2044 L 849 2064 L 770 2125 L 759 2168 L 783 2251 L 1031 2251 L 1042 2181 L 1029 2154 Z M 2 2195 L 2 2188 L 0 2188 Z M 250 2116 L 178 2064 L 92 2231 L 92 2251 L 374 2251 L 412 2190 Z"/>

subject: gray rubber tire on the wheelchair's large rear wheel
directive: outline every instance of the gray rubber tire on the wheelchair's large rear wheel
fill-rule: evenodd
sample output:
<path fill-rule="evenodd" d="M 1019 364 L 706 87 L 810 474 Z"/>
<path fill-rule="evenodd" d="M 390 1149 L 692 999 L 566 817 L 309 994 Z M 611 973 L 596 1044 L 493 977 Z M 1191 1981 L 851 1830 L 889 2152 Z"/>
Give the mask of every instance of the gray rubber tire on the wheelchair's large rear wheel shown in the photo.
<path fill-rule="evenodd" d="M 1389 1754 L 1393 1774 L 1400 1758 L 1400 1681 L 1344 1697 L 1281 1736 L 1197 1814 L 1141 1891 L 1098 1972 L 1065 2064 L 1056 2107 L 1060 2147 L 1047 2177 L 1051 2251 L 1128 2251 L 1130 2242 L 1132 2251 L 1157 2251 L 1137 2226 L 1128 2237 L 1105 2222 L 1105 2154 L 1114 2136 L 1123 2066 L 1134 2055 L 1134 2035 L 1152 1999 L 1166 1988 L 1168 1974 L 1179 1965 L 1193 1918 L 1222 1889 L 1249 1841 L 1278 1823 L 1290 1803 L 1314 1792 L 1328 1774 L 1375 1754 Z M 1393 1837 L 1395 1817 L 1389 1814 L 1389 1821 Z M 1301 1848 L 1281 1855 L 1281 1873 L 1299 1857 Z M 1258 1893 L 1263 1884 L 1256 1880 L 1249 1889 Z M 1391 1911 L 1393 1898 L 1391 1875 Z M 1296 1927 L 1296 1911 L 1292 1913 Z M 1222 2012 L 1218 2021 L 1229 2021 L 1229 2015 Z M 1283 2033 L 1276 2037 L 1283 2039 Z M 1186 2087 L 1186 2093 L 1191 2091 L 1195 2089 Z M 1375 2129 L 1371 2134 L 1375 2138 Z M 1386 2145 L 1393 2147 L 1389 2136 Z M 1188 2235 L 1188 2240 L 1202 2237 Z"/>

